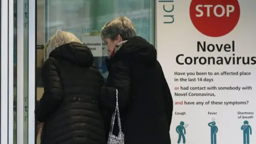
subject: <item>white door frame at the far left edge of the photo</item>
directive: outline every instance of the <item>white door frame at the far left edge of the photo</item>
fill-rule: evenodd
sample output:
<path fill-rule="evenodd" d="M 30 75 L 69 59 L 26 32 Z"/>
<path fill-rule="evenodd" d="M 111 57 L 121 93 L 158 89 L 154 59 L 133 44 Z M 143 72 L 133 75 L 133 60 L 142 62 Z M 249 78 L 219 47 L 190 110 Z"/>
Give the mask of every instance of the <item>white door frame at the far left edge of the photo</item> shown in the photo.
<path fill-rule="evenodd" d="M 1 0 L 1 143 L 13 144 L 14 3 Z"/>

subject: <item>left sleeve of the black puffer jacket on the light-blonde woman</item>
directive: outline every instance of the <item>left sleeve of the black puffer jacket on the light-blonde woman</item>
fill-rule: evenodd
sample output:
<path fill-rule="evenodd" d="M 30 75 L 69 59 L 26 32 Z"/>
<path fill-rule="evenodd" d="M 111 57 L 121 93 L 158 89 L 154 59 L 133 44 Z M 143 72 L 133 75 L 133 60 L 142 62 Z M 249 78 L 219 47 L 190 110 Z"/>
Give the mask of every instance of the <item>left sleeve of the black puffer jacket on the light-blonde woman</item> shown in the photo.
<path fill-rule="evenodd" d="M 44 94 L 40 101 L 36 103 L 35 108 L 35 116 L 39 122 L 44 122 L 47 116 L 61 104 L 63 99 L 60 76 L 51 59 L 44 62 L 42 79 Z"/>

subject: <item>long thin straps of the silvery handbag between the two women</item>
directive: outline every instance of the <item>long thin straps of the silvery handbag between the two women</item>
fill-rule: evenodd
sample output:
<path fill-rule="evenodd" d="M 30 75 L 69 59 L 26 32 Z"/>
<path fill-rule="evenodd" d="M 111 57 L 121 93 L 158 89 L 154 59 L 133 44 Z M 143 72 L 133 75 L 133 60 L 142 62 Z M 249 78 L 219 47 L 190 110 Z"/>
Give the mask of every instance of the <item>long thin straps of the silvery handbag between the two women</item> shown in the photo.
<path fill-rule="evenodd" d="M 116 89 L 116 109 L 115 109 L 115 113 L 112 115 L 110 133 L 113 133 L 113 129 L 114 129 L 114 125 L 115 125 L 115 120 L 116 120 L 116 115 L 117 115 L 117 122 L 118 122 L 119 132 L 122 132 L 121 118 L 120 118 L 119 106 L 118 106 L 118 90 L 117 89 Z"/>

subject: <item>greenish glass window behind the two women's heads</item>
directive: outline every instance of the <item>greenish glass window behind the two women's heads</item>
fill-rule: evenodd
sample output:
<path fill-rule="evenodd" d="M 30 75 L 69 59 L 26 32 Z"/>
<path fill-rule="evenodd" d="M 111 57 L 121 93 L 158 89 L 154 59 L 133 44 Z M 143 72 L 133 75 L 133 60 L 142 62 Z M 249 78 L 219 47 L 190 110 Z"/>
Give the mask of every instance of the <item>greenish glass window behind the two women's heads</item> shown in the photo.
<path fill-rule="evenodd" d="M 69 31 L 82 40 L 83 36 L 99 35 L 106 22 L 126 15 L 133 20 L 138 36 L 154 44 L 154 10 L 155 1 L 151 0 L 37 0 L 37 100 L 43 94 L 41 68 L 44 44 L 56 30 Z M 105 78 L 108 75 L 106 58 L 94 59 Z M 38 142 L 39 139 L 38 135 Z"/>

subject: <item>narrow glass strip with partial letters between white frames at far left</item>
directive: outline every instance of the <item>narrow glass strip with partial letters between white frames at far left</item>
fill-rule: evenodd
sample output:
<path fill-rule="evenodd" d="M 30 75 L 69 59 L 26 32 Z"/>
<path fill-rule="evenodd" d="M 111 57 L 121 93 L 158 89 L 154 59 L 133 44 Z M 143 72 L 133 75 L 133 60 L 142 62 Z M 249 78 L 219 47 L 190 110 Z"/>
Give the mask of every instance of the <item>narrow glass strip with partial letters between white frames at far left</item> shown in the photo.
<path fill-rule="evenodd" d="M 17 144 L 28 143 L 28 35 L 25 29 L 28 29 L 28 2 L 18 0 L 15 16 L 17 17 L 17 50 L 16 52 L 16 69 L 17 69 Z M 26 114 L 26 115 L 25 115 Z"/>

